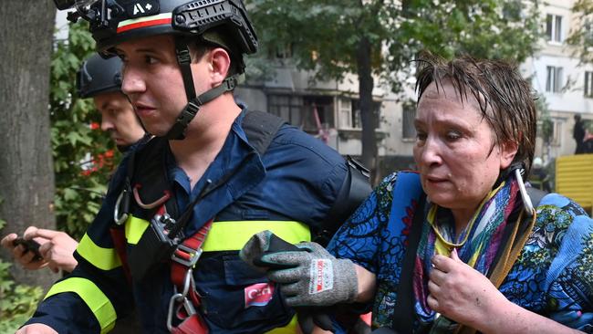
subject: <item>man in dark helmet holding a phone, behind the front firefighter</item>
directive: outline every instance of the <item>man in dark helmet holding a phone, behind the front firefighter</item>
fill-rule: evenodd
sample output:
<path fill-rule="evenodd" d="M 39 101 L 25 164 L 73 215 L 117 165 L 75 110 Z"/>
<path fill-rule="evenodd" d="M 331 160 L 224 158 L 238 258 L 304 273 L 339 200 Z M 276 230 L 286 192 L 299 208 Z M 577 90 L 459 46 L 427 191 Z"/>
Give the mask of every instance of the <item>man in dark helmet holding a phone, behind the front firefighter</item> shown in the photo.
<path fill-rule="evenodd" d="M 130 100 L 121 92 L 121 60 L 118 57 L 103 59 L 98 54 L 88 57 L 77 74 L 77 92 L 81 99 L 93 99 L 101 114 L 101 130 L 109 134 L 118 150 L 129 151 L 130 147 L 145 136 L 145 131 L 136 117 Z M 78 242 L 65 232 L 29 226 L 23 237 L 34 239 L 42 258 L 34 261 L 35 254 L 27 252 L 23 245 L 13 245 L 16 234 L 5 235 L 0 242 L 11 251 L 16 262 L 29 270 L 48 267 L 53 272 L 71 272 L 78 262 L 74 250 Z"/>

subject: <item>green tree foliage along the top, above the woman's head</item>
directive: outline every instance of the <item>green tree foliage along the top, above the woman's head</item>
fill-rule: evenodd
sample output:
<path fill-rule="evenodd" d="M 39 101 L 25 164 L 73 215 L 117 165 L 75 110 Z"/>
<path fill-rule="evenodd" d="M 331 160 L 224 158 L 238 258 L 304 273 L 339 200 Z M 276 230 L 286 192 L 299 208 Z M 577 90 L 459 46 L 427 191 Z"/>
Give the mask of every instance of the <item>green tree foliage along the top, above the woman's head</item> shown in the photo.
<path fill-rule="evenodd" d="M 442 57 L 508 58 L 536 51 L 537 0 L 251 0 L 260 55 L 291 45 L 296 66 L 317 78 L 358 73 L 359 41 L 368 38 L 372 71 L 401 91 L 394 73 L 411 69 L 421 50 Z M 402 4 L 402 5 L 401 5 Z"/>

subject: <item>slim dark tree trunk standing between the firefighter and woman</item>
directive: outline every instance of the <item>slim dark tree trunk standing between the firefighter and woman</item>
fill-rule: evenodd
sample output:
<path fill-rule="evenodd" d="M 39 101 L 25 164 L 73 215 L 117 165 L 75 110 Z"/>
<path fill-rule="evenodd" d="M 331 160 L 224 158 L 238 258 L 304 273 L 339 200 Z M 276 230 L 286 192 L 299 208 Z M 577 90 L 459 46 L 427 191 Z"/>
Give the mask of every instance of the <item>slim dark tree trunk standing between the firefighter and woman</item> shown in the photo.
<path fill-rule="evenodd" d="M 372 48 L 367 37 L 359 40 L 357 50 L 357 68 L 359 71 L 360 118 L 362 119 L 362 163 L 370 170 L 371 183 L 375 183 L 377 175 L 377 110 L 372 105 L 372 90 L 374 86 L 370 68 Z"/>

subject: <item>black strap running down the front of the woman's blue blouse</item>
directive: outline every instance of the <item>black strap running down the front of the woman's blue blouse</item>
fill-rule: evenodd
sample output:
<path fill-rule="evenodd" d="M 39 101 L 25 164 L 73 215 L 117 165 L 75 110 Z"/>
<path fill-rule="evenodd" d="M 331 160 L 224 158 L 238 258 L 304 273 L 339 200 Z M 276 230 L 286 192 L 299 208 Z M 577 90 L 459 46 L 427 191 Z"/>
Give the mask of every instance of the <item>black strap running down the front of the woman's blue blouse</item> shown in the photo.
<path fill-rule="evenodd" d="M 422 235 L 422 224 L 424 223 L 424 203 L 426 194 L 422 193 L 419 199 L 414 218 L 411 222 L 411 232 L 408 237 L 408 247 L 401 263 L 400 284 L 398 285 L 398 295 L 393 306 L 393 320 L 391 328 L 396 329 L 398 333 L 411 333 L 414 319 L 413 287 L 412 277 L 414 276 L 414 263 L 416 260 L 416 251 L 420 244 Z"/>

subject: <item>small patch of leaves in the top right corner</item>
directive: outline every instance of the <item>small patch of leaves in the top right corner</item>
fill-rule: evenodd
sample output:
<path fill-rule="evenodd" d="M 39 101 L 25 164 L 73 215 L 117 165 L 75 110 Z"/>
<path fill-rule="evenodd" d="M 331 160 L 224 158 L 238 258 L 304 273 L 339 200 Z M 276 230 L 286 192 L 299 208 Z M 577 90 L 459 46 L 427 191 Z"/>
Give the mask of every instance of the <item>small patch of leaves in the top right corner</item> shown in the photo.
<path fill-rule="evenodd" d="M 577 0 L 572 7 L 580 25 L 570 32 L 567 44 L 574 47 L 573 56 L 582 64 L 593 63 L 593 0 Z"/>

